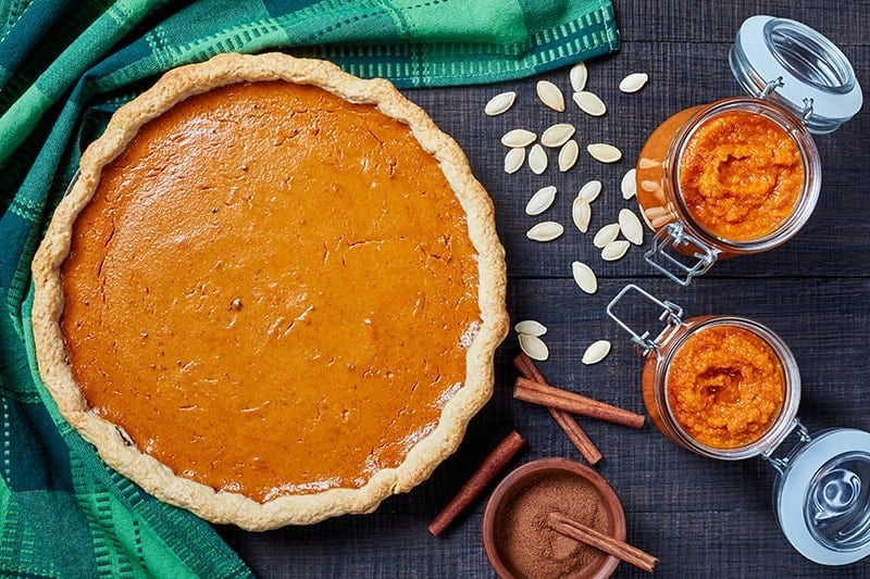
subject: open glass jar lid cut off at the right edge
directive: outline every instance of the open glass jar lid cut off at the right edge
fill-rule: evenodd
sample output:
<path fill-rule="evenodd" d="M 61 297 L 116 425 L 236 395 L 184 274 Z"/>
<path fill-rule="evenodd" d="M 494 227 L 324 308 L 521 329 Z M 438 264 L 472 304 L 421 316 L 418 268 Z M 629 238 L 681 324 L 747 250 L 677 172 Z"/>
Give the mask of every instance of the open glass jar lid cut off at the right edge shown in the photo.
<path fill-rule="evenodd" d="M 870 432 L 826 430 L 778 461 L 780 527 L 805 557 L 846 565 L 870 555 Z"/>

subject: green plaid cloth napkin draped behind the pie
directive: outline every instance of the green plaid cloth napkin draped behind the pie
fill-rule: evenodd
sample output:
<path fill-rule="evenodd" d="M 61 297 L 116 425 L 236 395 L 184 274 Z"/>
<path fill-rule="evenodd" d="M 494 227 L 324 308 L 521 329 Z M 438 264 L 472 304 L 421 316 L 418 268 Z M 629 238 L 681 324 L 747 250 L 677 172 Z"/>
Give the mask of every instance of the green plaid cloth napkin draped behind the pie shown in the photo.
<path fill-rule="evenodd" d="M 36 368 L 29 263 L 117 106 L 227 51 L 288 50 L 408 88 L 519 78 L 618 47 L 609 0 L 0 2 L 0 575 L 250 575 L 211 526 L 105 467 Z"/>

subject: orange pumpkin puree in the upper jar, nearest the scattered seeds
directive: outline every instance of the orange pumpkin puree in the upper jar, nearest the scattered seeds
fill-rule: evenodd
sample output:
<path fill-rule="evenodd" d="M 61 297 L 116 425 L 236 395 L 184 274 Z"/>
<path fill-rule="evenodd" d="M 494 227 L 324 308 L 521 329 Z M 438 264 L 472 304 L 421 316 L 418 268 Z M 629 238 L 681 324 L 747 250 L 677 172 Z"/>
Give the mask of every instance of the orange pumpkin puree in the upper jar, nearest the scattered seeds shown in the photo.
<path fill-rule="evenodd" d="M 701 124 L 680 159 L 680 187 L 693 218 L 732 241 L 761 239 L 788 218 L 804 188 L 795 140 L 776 123 L 728 112 Z"/>

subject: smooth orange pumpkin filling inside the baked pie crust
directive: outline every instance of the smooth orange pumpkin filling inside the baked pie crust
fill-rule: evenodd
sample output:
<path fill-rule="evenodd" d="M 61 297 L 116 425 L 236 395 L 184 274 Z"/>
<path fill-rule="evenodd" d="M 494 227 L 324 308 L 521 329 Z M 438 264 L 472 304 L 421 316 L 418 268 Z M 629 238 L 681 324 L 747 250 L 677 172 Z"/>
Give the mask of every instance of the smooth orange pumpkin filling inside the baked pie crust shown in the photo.
<path fill-rule="evenodd" d="M 259 502 L 398 466 L 481 325 L 437 160 L 373 105 L 283 81 L 146 124 L 61 273 L 89 407 L 176 475 Z"/>

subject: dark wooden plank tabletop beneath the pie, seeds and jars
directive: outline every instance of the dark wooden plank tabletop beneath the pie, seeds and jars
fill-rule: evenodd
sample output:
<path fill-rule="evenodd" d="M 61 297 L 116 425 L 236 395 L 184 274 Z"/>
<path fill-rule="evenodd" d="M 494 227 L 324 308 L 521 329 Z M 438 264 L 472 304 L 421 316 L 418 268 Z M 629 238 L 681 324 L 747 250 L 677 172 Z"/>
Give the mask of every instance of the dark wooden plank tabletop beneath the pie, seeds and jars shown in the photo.
<path fill-rule="evenodd" d="M 605 313 L 607 302 L 626 282 L 684 306 L 687 315 L 737 314 L 776 331 L 794 351 L 803 376 L 799 417 L 810 431 L 831 427 L 870 430 L 870 103 L 837 133 L 816 139 L 822 158 L 819 204 L 796 238 L 771 252 L 718 263 L 688 288 L 680 288 L 632 249 L 619 262 L 602 262 L 592 235 L 571 224 L 571 201 L 579 188 L 600 179 L 605 191 L 594 203 L 592 230 L 616 221 L 620 209 L 636 209 L 619 193 L 646 137 L 670 114 L 686 106 L 736 95 L 728 52 L 744 18 L 773 14 L 807 23 L 852 60 L 858 79 L 870 88 L 870 2 L 793 0 L 689 2 L 617 0 L 621 50 L 588 62 L 588 88 L 607 102 L 606 116 L 593 118 L 569 102 L 564 113 L 535 98 L 530 78 L 497 86 L 409 91 L 463 147 L 475 174 L 489 191 L 508 261 L 508 311 L 513 322 L 534 318 L 548 326 L 549 361 L 540 368 L 554 383 L 636 412 L 642 358 Z M 619 80 L 647 72 L 639 93 L 623 95 Z M 570 96 L 568 71 L 544 75 Z M 487 117 L 483 106 L 494 95 L 515 90 L 507 114 Z M 624 159 L 601 165 L 582 154 L 566 174 L 552 166 L 540 176 L 527 166 L 502 171 L 499 137 L 510 128 L 542 131 L 556 122 L 577 127 L 582 148 L 607 141 Z M 559 189 L 546 214 L 566 226 L 551 243 L 535 243 L 525 231 L 538 219 L 524 214 L 531 194 L 545 185 Z M 649 244 L 646 236 L 645 248 Z M 599 276 L 595 295 L 581 292 L 571 262 L 588 263 Z M 584 366 L 585 347 L 605 338 L 613 343 L 600 364 Z M 512 399 L 518 353 L 511 332 L 500 348 L 495 394 L 470 425 L 459 451 L 423 484 L 391 498 L 371 515 L 350 516 L 310 527 L 249 533 L 233 527 L 221 533 L 261 577 L 490 577 L 483 552 L 481 521 L 486 496 L 440 538 L 426 526 L 511 429 L 529 440 L 515 464 L 544 456 L 580 458 L 546 411 Z M 792 549 L 772 509 L 773 470 L 758 458 L 719 462 L 668 442 L 648 424 L 634 431 L 582 421 L 605 458 L 598 471 L 622 499 L 629 540 L 657 555 L 659 577 L 868 577 L 870 558 L 838 568 L 816 565 Z M 515 466 L 515 465 L 514 465 Z M 488 496 L 488 493 L 487 493 Z M 622 564 L 616 577 L 645 576 Z"/>

